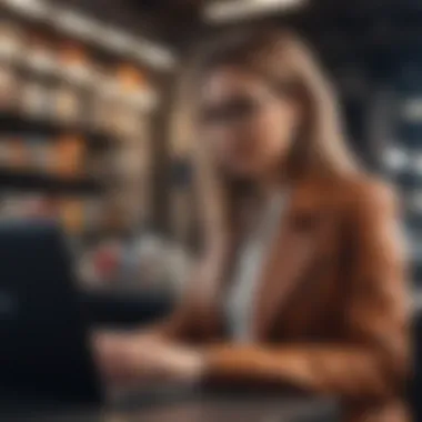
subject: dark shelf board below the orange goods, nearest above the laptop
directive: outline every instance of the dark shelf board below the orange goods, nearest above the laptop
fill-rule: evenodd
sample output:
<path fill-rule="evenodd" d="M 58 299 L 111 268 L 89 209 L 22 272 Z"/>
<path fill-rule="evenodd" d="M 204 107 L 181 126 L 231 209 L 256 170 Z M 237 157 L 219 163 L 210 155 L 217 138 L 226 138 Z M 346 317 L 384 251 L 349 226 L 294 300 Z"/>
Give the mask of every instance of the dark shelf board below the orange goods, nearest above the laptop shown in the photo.
<path fill-rule="evenodd" d="M 47 191 L 64 194 L 99 194 L 100 183 L 88 178 L 66 179 L 31 171 L 0 169 L 0 190 Z"/>

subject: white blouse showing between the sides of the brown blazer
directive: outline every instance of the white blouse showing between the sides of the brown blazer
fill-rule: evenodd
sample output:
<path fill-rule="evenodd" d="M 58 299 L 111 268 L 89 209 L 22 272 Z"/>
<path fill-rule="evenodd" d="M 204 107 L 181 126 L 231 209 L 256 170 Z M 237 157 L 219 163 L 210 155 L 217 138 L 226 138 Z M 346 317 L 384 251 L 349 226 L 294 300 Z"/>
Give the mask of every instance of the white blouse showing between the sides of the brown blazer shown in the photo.
<path fill-rule="evenodd" d="M 224 302 L 229 338 L 235 342 L 252 342 L 251 318 L 263 261 L 278 232 L 287 195 L 278 192 L 268 201 L 260 218 L 247 233 L 235 262 L 233 280 Z"/>

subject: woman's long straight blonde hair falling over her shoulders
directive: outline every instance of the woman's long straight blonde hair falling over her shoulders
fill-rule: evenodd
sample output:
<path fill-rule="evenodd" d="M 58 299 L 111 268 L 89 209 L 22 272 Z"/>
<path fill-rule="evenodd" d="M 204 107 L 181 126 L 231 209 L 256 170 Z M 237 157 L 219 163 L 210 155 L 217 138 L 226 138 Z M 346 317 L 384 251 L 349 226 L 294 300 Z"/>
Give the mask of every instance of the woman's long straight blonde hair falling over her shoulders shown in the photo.
<path fill-rule="evenodd" d="M 188 66 L 189 64 L 189 66 Z M 218 174 L 207 147 L 195 139 L 198 88 L 208 72 L 221 66 L 251 71 L 274 88 L 288 84 L 305 111 L 301 139 L 293 143 L 287 163 L 290 178 L 305 174 L 340 177 L 358 170 L 343 137 L 335 96 L 310 49 L 287 30 L 241 30 L 202 46 L 182 80 L 183 110 L 195 144 L 195 180 L 201 205 L 204 245 L 227 251 L 237 222 L 239 201 L 230 181 Z M 285 171 L 285 168 L 284 168 Z"/>

